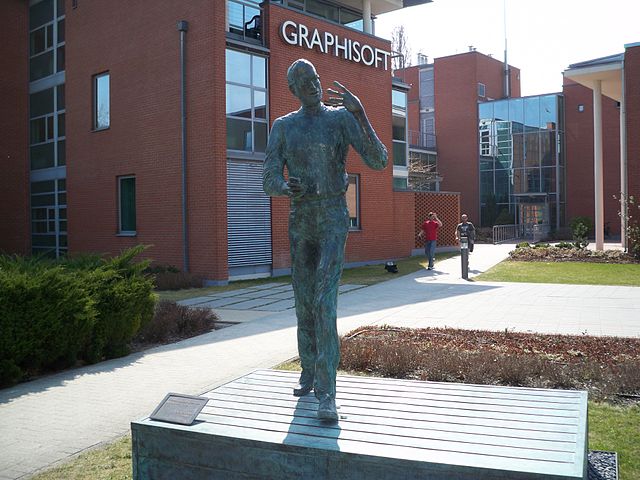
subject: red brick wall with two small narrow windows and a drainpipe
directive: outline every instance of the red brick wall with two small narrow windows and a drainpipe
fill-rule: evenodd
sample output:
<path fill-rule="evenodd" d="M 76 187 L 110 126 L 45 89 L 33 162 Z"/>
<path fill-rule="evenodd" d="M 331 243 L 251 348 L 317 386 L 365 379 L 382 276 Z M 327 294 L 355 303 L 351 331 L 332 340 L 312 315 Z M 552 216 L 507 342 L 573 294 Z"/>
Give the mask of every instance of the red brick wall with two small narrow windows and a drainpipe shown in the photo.
<path fill-rule="evenodd" d="M 187 176 L 190 263 L 227 276 L 224 2 L 158 0 L 67 9 L 67 186 L 71 252 L 137 243 L 182 267 L 180 34 L 189 22 Z M 111 126 L 92 132 L 92 76 L 110 72 Z M 137 236 L 117 236 L 117 183 L 136 176 Z"/>

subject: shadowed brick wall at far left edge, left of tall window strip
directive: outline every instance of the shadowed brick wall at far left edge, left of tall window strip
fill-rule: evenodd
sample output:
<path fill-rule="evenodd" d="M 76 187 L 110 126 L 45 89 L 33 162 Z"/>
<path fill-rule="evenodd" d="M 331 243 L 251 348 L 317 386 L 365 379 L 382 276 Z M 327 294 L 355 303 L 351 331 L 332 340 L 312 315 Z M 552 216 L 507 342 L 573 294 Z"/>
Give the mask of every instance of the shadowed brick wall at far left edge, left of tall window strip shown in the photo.
<path fill-rule="evenodd" d="M 28 253 L 29 7 L 0 3 L 0 252 Z"/>

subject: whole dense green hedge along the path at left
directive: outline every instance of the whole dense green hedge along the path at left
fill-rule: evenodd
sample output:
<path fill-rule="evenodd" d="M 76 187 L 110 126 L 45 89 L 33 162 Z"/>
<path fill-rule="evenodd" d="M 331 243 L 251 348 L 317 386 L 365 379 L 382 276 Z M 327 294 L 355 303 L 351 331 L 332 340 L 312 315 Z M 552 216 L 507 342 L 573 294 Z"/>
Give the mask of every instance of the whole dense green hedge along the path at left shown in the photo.
<path fill-rule="evenodd" d="M 148 262 L 133 261 L 144 248 L 58 262 L 0 256 L 0 386 L 126 355 L 155 304 Z"/>

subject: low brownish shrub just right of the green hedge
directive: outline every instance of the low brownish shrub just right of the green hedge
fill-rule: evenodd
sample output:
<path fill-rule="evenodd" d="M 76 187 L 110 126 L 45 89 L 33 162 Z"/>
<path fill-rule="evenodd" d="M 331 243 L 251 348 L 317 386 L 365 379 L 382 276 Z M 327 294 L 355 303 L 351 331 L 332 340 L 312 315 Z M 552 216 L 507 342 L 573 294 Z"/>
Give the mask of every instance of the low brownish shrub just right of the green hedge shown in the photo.
<path fill-rule="evenodd" d="M 169 300 L 158 302 L 153 319 L 135 337 L 136 343 L 164 343 L 188 338 L 216 328 L 218 316 L 208 308 L 178 305 Z"/>

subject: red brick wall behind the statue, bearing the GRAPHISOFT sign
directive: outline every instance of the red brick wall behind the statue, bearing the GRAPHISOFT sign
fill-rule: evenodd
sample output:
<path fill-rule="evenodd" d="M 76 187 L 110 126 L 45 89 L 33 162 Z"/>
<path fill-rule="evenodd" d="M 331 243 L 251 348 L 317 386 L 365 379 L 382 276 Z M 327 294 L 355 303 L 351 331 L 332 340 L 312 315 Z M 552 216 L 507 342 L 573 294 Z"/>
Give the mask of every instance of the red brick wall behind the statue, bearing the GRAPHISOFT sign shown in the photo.
<path fill-rule="evenodd" d="M 286 44 L 279 36 L 279 28 L 285 20 L 306 25 L 309 30 L 318 28 L 322 32 L 331 32 L 341 38 L 350 38 L 389 51 L 386 40 L 369 36 L 348 28 L 342 28 L 322 20 L 298 14 L 292 10 L 271 4 L 268 6 L 269 26 L 268 43 L 271 49 L 269 63 L 269 105 L 270 121 L 279 116 L 297 110 L 298 100 L 289 92 L 286 72 L 298 58 L 310 60 L 316 67 L 324 89 L 338 80 L 356 94 L 362 101 L 369 120 L 382 142 L 391 148 L 391 69 L 374 68 L 354 63 L 333 55 L 323 54 Z M 347 241 L 347 262 L 384 260 L 411 253 L 411 235 L 403 237 L 396 229 L 404 225 L 409 228 L 413 222 L 413 209 L 408 195 L 394 193 L 392 190 L 393 169 L 390 164 L 383 171 L 374 171 L 367 167 L 353 151 L 349 153 L 347 171 L 360 175 L 360 231 L 349 233 Z M 287 268 L 289 260 L 289 242 L 287 234 L 288 200 L 274 198 L 272 201 L 272 244 L 273 267 Z M 410 230 L 408 230 L 410 232 Z"/>

